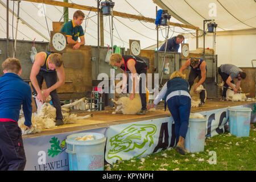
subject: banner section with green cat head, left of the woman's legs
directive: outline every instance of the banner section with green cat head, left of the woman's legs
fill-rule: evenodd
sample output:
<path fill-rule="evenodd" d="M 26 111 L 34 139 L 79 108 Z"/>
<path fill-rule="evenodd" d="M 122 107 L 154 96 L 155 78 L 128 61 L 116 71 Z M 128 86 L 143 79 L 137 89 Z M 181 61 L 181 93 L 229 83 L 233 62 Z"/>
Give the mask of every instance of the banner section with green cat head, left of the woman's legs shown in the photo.
<path fill-rule="evenodd" d="M 172 117 L 110 126 L 105 160 L 136 159 L 175 145 Z"/>

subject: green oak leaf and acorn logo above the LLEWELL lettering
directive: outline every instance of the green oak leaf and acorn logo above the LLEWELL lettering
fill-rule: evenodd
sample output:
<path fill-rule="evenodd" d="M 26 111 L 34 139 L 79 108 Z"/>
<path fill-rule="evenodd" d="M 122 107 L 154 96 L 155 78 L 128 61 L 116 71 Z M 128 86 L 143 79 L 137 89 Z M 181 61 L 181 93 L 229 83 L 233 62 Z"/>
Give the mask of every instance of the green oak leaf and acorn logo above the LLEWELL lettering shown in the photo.
<path fill-rule="evenodd" d="M 53 137 L 51 139 L 52 140 L 49 141 L 49 143 L 52 143 L 51 149 L 48 149 L 47 153 L 48 153 L 48 156 L 51 156 L 53 158 L 55 155 L 59 155 L 65 150 L 64 147 L 66 145 L 66 142 L 65 142 L 65 140 L 63 140 L 60 143 L 60 140 L 57 140 L 58 138 L 55 138 L 55 137 Z"/>

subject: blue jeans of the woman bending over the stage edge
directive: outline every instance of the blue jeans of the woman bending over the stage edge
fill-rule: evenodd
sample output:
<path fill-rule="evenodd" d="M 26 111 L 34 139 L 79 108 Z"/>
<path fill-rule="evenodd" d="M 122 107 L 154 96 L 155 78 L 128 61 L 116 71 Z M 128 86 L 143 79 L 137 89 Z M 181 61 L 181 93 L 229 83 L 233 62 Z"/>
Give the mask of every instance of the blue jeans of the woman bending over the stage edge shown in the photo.
<path fill-rule="evenodd" d="M 185 138 L 188 131 L 188 120 L 191 110 L 191 98 L 188 96 L 174 96 L 167 100 L 168 109 L 174 118 L 176 143 L 180 136 Z"/>

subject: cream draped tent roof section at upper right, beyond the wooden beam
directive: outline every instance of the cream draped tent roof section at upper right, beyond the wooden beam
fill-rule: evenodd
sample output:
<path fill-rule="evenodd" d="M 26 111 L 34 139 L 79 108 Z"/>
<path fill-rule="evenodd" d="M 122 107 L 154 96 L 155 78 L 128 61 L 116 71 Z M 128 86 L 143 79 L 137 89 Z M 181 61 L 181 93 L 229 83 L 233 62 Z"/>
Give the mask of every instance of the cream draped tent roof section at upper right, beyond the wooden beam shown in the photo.
<path fill-rule="evenodd" d="M 256 28 L 254 0 L 154 0 L 163 3 L 173 16 L 203 30 L 204 19 L 214 19 L 217 31 Z M 162 7 L 163 8 L 163 7 Z"/>

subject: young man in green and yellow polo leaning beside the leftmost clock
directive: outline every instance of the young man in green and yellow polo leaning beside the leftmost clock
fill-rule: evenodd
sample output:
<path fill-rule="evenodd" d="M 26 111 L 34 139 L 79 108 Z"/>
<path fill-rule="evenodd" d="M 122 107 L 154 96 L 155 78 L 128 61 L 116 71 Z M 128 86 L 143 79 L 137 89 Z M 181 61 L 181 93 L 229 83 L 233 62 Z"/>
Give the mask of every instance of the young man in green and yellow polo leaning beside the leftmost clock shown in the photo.
<path fill-rule="evenodd" d="M 81 45 L 85 44 L 84 30 L 82 30 L 81 26 L 84 17 L 84 13 L 81 10 L 77 10 L 73 14 L 73 20 L 65 23 L 60 30 L 60 32 L 67 34 L 67 43 L 74 44 L 73 49 L 79 49 Z M 81 39 L 81 42 L 78 42 L 78 38 Z"/>

